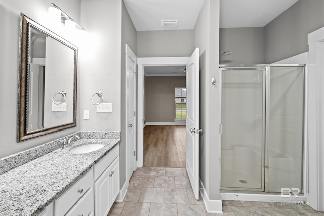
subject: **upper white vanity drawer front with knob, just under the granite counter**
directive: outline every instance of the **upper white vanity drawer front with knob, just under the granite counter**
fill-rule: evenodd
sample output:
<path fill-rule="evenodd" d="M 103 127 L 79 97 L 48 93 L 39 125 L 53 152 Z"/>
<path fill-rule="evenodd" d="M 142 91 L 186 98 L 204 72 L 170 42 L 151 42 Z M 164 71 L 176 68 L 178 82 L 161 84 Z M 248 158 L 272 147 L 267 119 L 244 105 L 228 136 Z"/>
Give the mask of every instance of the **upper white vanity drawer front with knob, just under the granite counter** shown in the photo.
<path fill-rule="evenodd" d="M 93 168 L 55 200 L 55 215 L 64 215 L 91 187 L 93 187 Z"/>

